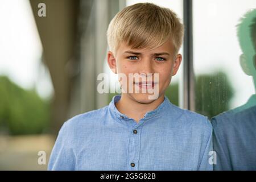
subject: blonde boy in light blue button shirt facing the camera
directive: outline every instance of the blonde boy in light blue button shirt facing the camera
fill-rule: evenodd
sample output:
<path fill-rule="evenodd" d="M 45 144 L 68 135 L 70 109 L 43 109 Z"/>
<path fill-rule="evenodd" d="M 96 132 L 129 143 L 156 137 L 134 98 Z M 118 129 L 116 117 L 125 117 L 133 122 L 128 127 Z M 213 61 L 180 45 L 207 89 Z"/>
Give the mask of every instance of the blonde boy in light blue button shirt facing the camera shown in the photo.
<path fill-rule="evenodd" d="M 108 64 L 114 73 L 158 75 L 122 88 L 108 106 L 65 122 L 49 160 L 50 170 L 212 170 L 212 126 L 200 114 L 172 105 L 164 91 L 177 73 L 183 25 L 171 10 L 152 3 L 126 7 L 108 28 Z M 156 80 L 155 80 L 156 79 Z M 122 80 L 123 81 L 123 80 Z"/>

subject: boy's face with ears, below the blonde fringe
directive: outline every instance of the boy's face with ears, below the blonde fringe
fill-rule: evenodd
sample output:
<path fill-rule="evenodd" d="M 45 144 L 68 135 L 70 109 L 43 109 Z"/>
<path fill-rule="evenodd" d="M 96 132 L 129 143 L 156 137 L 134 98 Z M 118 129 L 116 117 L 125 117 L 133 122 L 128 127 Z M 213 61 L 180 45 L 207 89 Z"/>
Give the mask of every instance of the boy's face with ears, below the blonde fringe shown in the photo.
<path fill-rule="evenodd" d="M 163 96 L 164 91 L 170 84 L 171 77 L 176 75 L 177 70 L 179 69 L 181 63 L 181 55 L 174 55 L 174 46 L 171 41 L 167 41 L 162 46 L 149 50 L 147 48 L 144 49 L 131 49 L 127 44 L 121 44 L 115 56 L 113 52 L 108 52 L 108 64 L 110 69 L 114 73 L 123 73 L 127 78 L 127 89 L 132 88 L 135 90 L 155 88 L 156 84 L 158 84 L 158 98 Z M 143 81 L 141 78 L 149 76 L 149 73 L 152 74 L 151 79 L 154 84 L 146 83 L 148 85 L 144 85 L 142 83 L 138 83 L 137 81 L 128 80 L 129 73 L 137 73 L 141 75 L 140 82 Z M 155 80 L 155 76 L 159 76 L 158 80 Z M 121 84 L 122 85 L 122 84 Z M 150 93 L 129 93 L 127 91 L 127 96 L 129 96 L 132 100 L 137 102 L 147 104 L 154 100 L 149 99 L 148 96 L 152 96 L 152 92 Z M 155 95 L 155 93 L 154 93 Z M 158 99 L 156 98 L 156 99 Z"/>

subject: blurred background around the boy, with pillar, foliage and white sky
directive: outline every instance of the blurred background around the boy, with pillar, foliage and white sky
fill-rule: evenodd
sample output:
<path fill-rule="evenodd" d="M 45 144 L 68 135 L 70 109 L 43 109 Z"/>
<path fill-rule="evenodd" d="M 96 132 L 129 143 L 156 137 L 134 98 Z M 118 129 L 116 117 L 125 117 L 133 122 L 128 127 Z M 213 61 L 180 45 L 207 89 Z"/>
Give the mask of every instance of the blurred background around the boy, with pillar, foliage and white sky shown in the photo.
<path fill-rule="evenodd" d="M 106 73 L 109 82 L 117 82 L 106 62 L 106 30 L 118 11 L 152 2 L 174 10 L 183 22 L 188 1 L 1 0 L 0 170 L 46 170 L 63 123 L 112 100 L 115 94 L 97 92 L 97 76 Z M 46 16 L 39 16 L 40 3 Z M 240 66 L 236 32 L 255 0 L 193 0 L 190 5 L 193 107 L 184 105 L 184 65 L 166 96 L 211 118 L 255 94 L 252 78 Z M 46 152 L 46 164 L 38 164 L 39 151 Z"/>

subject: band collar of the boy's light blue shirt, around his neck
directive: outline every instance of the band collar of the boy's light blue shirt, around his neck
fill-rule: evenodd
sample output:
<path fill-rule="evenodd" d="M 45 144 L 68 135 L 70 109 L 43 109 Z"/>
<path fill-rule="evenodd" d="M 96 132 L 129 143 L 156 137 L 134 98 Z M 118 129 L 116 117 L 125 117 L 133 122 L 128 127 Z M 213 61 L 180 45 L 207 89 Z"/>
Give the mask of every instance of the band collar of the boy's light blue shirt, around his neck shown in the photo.
<path fill-rule="evenodd" d="M 120 94 L 113 96 L 112 101 L 109 104 L 109 108 L 112 111 L 112 113 L 115 115 L 115 117 L 119 119 L 129 120 L 131 118 L 127 117 L 127 115 L 125 114 L 120 113 L 117 107 L 115 107 L 115 103 L 118 102 L 120 98 L 121 98 Z M 146 120 L 146 119 L 155 117 L 156 115 L 164 113 L 165 107 L 167 105 L 170 105 L 170 100 L 168 100 L 168 98 L 164 96 L 164 101 L 158 107 L 156 107 L 156 109 L 147 111 L 147 113 L 144 115 L 144 119 Z"/>

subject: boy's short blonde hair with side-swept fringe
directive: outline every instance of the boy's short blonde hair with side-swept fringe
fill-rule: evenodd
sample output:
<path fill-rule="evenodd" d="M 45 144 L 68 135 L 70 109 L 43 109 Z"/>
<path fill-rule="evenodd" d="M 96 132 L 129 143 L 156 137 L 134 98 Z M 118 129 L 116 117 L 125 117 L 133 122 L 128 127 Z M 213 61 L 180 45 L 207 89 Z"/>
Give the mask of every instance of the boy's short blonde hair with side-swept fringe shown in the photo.
<path fill-rule="evenodd" d="M 170 9 L 153 3 L 137 3 L 119 11 L 109 23 L 107 39 L 114 54 L 121 43 L 132 49 L 154 49 L 168 39 L 176 54 L 183 42 L 184 28 Z"/>

